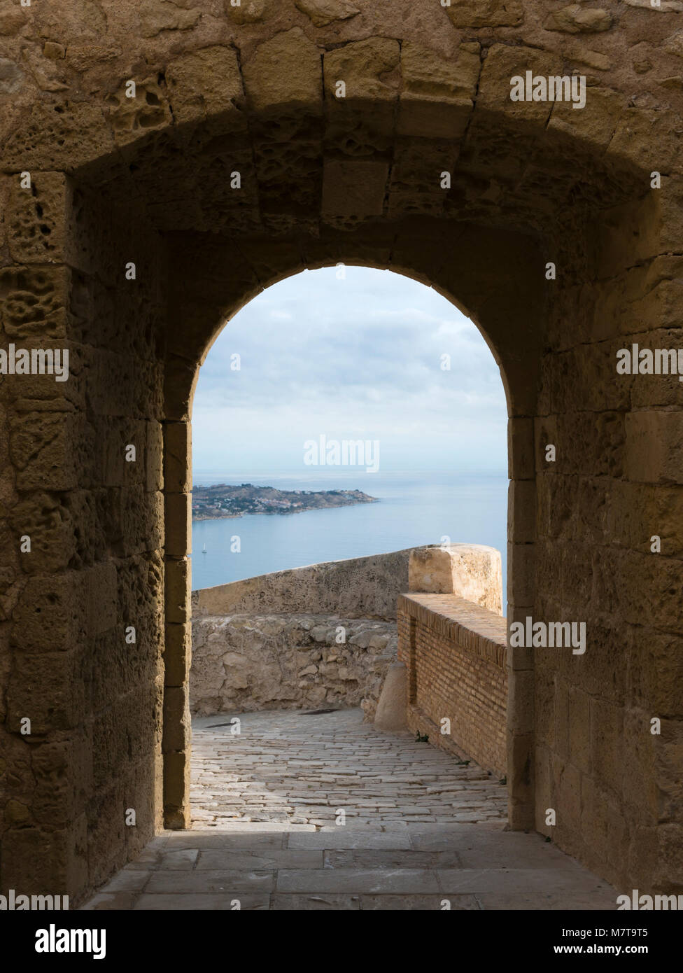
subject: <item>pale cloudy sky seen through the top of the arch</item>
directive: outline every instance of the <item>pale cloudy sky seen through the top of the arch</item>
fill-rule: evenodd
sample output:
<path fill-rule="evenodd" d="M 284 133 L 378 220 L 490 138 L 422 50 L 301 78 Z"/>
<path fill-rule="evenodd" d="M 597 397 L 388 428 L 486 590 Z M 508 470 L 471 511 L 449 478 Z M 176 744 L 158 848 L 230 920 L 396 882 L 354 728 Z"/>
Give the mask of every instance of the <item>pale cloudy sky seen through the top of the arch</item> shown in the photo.
<path fill-rule="evenodd" d="M 344 271 L 274 284 L 223 329 L 199 373 L 195 470 L 305 470 L 325 435 L 377 440 L 384 471 L 506 471 L 505 393 L 477 327 L 401 274 Z"/>

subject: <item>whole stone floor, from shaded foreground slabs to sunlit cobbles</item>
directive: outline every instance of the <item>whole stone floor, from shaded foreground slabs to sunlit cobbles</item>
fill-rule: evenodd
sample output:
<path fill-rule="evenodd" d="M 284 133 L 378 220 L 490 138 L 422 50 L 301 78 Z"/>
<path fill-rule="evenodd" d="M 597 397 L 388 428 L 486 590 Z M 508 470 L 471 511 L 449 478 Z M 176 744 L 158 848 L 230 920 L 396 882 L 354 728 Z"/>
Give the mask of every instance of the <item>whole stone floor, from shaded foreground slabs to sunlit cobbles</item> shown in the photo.
<path fill-rule="evenodd" d="M 239 736 L 231 718 L 194 721 L 192 829 L 155 838 L 84 909 L 616 908 L 608 883 L 504 830 L 506 788 L 474 763 L 360 710 L 240 714 Z"/>

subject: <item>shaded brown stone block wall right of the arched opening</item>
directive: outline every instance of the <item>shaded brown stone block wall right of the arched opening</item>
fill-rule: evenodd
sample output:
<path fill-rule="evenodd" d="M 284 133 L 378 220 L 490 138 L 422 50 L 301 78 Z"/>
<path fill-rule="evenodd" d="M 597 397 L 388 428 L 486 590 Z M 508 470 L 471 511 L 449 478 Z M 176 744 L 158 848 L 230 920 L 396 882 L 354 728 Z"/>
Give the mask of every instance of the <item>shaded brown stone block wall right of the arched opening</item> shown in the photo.
<path fill-rule="evenodd" d="M 652 170 L 663 149 L 643 146 Z M 526 726 L 536 739 L 537 829 L 612 882 L 680 891 L 683 385 L 676 375 L 614 374 L 617 350 L 632 342 L 683 347 L 674 184 L 606 209 L 597 228 L 568 224 L 557 246 L 572 282 L 550 318 L 524 473 L 537 493 L 535 597 L 529 585 L 510 621 L 587 627 L 584 655 L 531 650 L 534 670 L 520 681 L 535 701 Z M 568 245 L 579 239 L 594 261 Z M 555 462 L 547 444 L 557 445 Z M 531 526 L 516 528 L 529 551 Z M 526 666 L 529 650 L 517 652 Z"/>

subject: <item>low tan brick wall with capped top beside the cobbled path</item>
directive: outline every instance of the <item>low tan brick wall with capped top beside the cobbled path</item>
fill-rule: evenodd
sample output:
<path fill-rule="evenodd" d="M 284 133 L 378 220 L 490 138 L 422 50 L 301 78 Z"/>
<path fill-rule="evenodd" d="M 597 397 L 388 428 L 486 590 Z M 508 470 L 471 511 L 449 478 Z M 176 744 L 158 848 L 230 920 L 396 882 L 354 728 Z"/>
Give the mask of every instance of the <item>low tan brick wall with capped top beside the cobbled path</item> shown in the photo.
<path fill-rule="evenodd" d="M 457 595 L 401 595 L 399 660 L 408 725 L 430 742 L 506 773 L 506 621 Z M 441 720 L 450 720 L 450 734 Z"/>

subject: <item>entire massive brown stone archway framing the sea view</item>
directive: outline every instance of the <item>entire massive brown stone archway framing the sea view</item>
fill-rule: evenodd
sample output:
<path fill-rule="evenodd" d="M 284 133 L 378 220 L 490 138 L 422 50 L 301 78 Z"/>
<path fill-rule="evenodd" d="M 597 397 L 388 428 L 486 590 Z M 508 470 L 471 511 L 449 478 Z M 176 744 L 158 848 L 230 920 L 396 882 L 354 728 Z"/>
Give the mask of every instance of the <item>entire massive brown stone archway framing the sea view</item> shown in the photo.
<path fill-rule="evenodd" d="M 155 5 L 146 59 L 114 19 L 109 54 L 74 43 L 7 104 L 2 337 L 67 346 L 71 377 L 2 389 L 3 884 L 85 893 L 163 808 L 186 822 L 198 366 L 254 294 L 342 261 L 408 273 L 479 323 L 510 407 L 508 619 L 586 616 L 593 631 L 581 660 L 510 652 L 512 826 L 547 832 L 557 808 L 557 844 L 600 875 L 674 887 L 681 392 L 617 377 L 615 354 L 625 336 L 668 346 L 677 327 L 680 106 L 655 82 L 654 107 L 633 106 L 600 54 L 580 111 L 512 101 L 527 70 L 585 70 L 532 6 L 422 3 L 380 28 L 370 7 L 181 24 Z M 37 29 L 54 11 L 31 16 Z M 625 12 L 615 63 L 644 16 L 673 33 L 665 12 Z"/>

